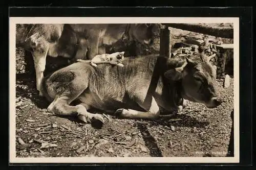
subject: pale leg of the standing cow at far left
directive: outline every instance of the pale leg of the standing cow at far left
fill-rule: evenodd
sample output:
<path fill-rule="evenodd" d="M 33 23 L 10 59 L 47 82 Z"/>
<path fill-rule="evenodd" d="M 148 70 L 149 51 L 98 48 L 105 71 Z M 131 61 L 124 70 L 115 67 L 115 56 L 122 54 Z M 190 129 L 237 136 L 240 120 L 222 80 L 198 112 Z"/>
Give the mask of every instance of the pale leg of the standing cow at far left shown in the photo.
<path fill-rule="evenodd" d="M 35 65 L 35 73 L 36 73 L 36 89 L 39 91 L 39 95 L 42 96 L 42 92 L 40 90 L 42 78 L 44 78 L 44 71 L 46 68 L 46 56 L 49 49 L 49 45 L 41 45 L 39 49 L 37 47 L 32 52 L 34 65 Z"/>

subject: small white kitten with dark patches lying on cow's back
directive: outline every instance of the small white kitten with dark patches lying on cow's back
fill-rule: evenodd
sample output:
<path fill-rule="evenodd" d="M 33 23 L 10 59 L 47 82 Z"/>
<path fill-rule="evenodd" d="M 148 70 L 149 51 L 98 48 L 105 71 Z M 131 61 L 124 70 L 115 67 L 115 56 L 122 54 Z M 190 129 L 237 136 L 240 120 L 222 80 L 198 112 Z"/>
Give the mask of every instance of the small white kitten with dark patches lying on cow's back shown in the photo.
<path fill-rule="evenodd" d="M 124 52 L 116 52 L 112 54 L 99 54 L 96 55 L 92 60 L 81 60 L 77 59 L 78 62 L 85 62 L 85 63 L 91 63 L 91 65 L 97 67 L 97 64 L 101 63 L 109 63 L 114 65 L 119 65 L 123 67 L 122 61 L 124 59 L 123 57 Z"/>

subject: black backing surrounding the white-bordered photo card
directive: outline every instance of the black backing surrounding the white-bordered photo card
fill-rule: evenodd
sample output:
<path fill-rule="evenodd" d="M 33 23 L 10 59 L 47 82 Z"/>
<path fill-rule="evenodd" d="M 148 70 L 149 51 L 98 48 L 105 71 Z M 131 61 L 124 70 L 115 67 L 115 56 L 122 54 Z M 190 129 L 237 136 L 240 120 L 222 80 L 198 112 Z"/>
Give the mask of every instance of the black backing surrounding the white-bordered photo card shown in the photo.
<path fill-rule="evenodd" d="M 100 11 L 100 12 L 99 12 Z M 131 12 L 132 11 L 132 12 Z M 233 165 L 233 166 L 250 166 L 252 165 L 252 8 L 251 7 L 10 7 L 9 17 L 239 17 L 240 18 L 240 163 L 79 163 L 75 165 L 88 166 L 205 166 L 205 165 Z M 9 36 L 8 36 L 9 39 Z M 9 51 L 9 48 L 8 48 Z M 3 63 L 2 63 L 3 64 Z M 1 64 L 1 65 L 2 65 Z M 5 68 L 7 65 L 3 65 Z M 9 64 L 8 64 L 9 66 Z M 8 70 L 8 66 L 7 69 Z M 4 68 L 2 67 L 2 68 Z M 9 78 L 8 78 L 9 82 Z M 6 87 L 6 86 L 5 86 Z M 8 86 L 7 86 L 8 87 Z M 5 93 L 7 92 L 7 89 Z M 7 94 L 5 95 L 7 96 Z M 9 102 L 9 101 L 8 101 Z M 8 106 L 7 101 L 4 103 Z M 8 117 L 8 116 L 7 116 Z M 9 117 L 7 118 L 9 123 Z M 9 126 L 8 126 L 9 129 Z M 8 131 L 9 134 L 9 131 Z M 9 139 L 9 135 L 8 135 Z M 9 162 L 9 151 L 8 151 Z M 26 164 L 10 164 L 26 165 Z M 66 166 L 68 164 L 38 164 L 29 163 L 29 165 L 56 165 Z M 64 167 L 58 166 L 60 169 Z M 76 169 L 78 168 L 75 166 Z M 37 169 L 38 169 L 37 168 Z"/>

